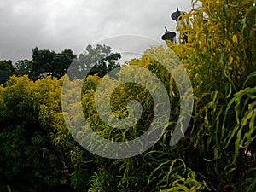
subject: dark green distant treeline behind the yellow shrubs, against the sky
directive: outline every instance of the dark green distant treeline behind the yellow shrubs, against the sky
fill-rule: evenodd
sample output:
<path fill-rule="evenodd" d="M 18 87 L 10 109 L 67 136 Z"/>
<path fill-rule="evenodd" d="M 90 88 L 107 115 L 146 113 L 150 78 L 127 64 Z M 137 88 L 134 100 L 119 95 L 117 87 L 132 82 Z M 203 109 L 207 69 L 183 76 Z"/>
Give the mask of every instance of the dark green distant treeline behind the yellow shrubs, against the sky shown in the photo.
<path fill-rule="evenodd" d="M 11 74 L 17 76 L 27 74 L 32 80 L 41 79 L 45 76 L 60 79 L 67 73 L 71 63 L 75 63 L 73 73 L 69 78 L 79 78 L 80 73 L 88 70 L 88 75 L 97 74 L 102 77 L 115 67 L 119 67 L 119 53 L 112 53 L 111 48 L 106 45 L 97 44 L 95 48 L 91 45 L 86 47 L 84 53 L 74 55 L 71 49 L 64 49 L 61 53 L 55 53 L 49 49 L 32 49 L 32 61 L 18 60 L 13 63 L 11 60 L 0 61 L 0 83 L 9 78 Z"/>

